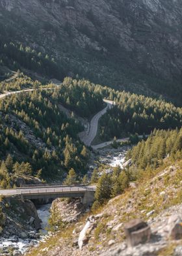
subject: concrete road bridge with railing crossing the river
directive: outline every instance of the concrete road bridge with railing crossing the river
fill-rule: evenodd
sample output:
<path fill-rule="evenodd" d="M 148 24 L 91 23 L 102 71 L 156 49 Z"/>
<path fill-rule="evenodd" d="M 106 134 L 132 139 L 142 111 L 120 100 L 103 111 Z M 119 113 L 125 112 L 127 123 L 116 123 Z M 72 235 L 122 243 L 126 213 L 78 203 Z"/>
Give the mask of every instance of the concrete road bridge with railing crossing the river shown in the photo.
<path fill-rule="evenodd" d="M 89 185 L 55 185 L 49 186 L 44 184 L 44 186 L 36 187 L 20 187 L 17 189 L 3 189 L 0 190 L 0 195 L 5 197 L 10 196 L 20 196 L 21 199 L 56 199 L 60 197 L 81 197 L 83 199 L 83 204 L 89 205 L 94 202 L 94 193 L 96 187 Z"/>

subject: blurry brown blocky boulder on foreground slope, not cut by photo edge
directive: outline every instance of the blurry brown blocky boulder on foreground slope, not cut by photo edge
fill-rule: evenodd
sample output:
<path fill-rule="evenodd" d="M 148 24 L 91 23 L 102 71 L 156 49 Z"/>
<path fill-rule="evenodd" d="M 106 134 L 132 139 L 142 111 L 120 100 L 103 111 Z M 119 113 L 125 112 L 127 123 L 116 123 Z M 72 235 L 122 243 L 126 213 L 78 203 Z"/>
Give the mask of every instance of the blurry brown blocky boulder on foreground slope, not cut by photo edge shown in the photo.
<path fill-rule="evenodd" d="M 151 236 L 150 227 L 141 219 L 133 219 L 132 221 L 126 223 L 124 231 L 127 238 L 128 247 L 144 244 L 149 241 Z"/>

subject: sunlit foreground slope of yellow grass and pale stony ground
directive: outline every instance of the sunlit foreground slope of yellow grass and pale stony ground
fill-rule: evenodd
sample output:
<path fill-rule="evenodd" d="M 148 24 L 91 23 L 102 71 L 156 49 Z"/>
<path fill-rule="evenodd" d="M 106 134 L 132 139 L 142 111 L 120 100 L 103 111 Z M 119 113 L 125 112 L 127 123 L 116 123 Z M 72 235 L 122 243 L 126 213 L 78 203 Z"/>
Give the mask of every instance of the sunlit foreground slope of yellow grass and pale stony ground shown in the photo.
<path fill-rule="evenodd" d="M 181 245 L 181 240 L 168 239 L 166 228 L 171 216 L 181 215 L 181 179 L 181 161 L 175 164 L 167 161 L 150 174 L 148 172 L 136 187 L 130 187 L 123 195 L 109 200 L 92 216 L 94 223 L 88 229 L 82 250 L 77 247 L 77 240 L 89 219 L 87 216 L 70 228 L 60 230 L 27 255 L 177 255 L 172 252 Z M 147 244 L 127 248 L 123 227 L 127 221 L 138 217 L 148 222 L 153 236 Z M 170 248 L 171 254 L 166 248 Z"/>

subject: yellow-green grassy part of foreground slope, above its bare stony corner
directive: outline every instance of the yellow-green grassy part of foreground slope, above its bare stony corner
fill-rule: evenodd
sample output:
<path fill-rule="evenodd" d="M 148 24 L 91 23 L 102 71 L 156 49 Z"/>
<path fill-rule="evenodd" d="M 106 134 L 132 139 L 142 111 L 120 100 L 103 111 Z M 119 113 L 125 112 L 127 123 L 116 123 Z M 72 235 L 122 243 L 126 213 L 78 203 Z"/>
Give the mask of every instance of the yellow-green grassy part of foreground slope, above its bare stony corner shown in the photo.
<path fill-rule="evenodd" d="M 167 220 L 168 216 L 181 206 L 181 173 L 181 161 L 165 161 L 160 168 L 147 172 L 145 177 L 139 179 L 136 182 L 136 188 L 130 187 L 123 195 L 111 199 L 103 208 L 93 212 L 94 215 L 100 214 L 100 217 L 88 235 L 88 244 L 82 251 L 72 244 L 79 236 L 77 230 L 84 227 L 87 216 L 76 225 L 60 230 L 56 236 L 47 239 L 46 243 L 40 243 L 40 246 L 32 249 L 30 253 L 27 253 L 27 256 L 47 256 L 54 255 L 54 253 L 61 255 L 63 252 L 66 256 L 94 255 L 96 253 L 108 255 L 112 249 L 122 248 L 122 244 L 125 244 L 124 223 L 138 217 L 151 223 L 151 216 L 148 213 L 153 211 L 152 223 L 155 225 L 155 221 L 157 222 L 160 217 Z M 154 227 L 152 226 L 152 228 Z M 113 239 L 114 246 L 109 246 L 109 241 Z M 150 245 L 148 244 L 148 246 Z M 155 243 L 153 246 L 156 246 Z M 159 249 L 155 255 L 172 255 L 176 246 L 175 242 L 166 241 L 162 249 Z M 121 252 L 121 255 L 125 255 L 124 253 L 125 251 L 123 254 Z"/>

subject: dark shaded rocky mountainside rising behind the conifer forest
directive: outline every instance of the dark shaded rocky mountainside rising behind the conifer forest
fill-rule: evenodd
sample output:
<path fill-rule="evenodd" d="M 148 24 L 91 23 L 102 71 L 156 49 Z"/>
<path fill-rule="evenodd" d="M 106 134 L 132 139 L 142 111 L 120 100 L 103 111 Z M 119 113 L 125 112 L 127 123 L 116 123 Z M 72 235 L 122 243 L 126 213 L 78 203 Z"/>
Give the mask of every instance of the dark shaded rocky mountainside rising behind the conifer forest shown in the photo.
<path fill-rule="evenodd" d="M 38 69 L 44 75 L 51 76 L 52 69 L 60 80 L 79 74 L 180 104 L 181 9 L 179 0 L 1 0 L 0 35 L 3 43 L 41 52 L 45 58 L 33 53 L 31 61 L 46 66 Z M 15 56 L 14 61 L 33 69 Z"/>

